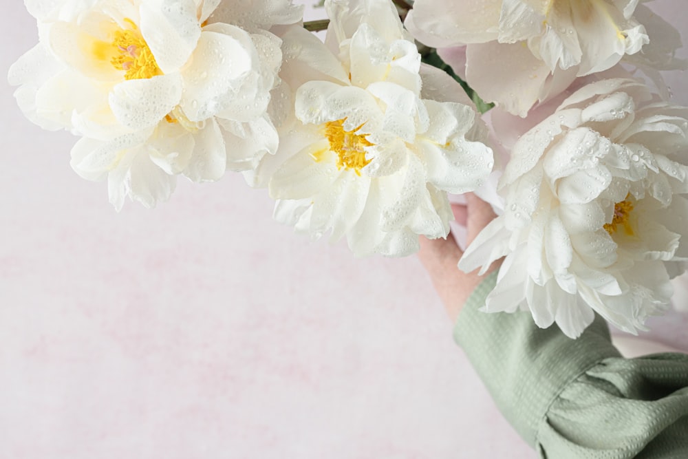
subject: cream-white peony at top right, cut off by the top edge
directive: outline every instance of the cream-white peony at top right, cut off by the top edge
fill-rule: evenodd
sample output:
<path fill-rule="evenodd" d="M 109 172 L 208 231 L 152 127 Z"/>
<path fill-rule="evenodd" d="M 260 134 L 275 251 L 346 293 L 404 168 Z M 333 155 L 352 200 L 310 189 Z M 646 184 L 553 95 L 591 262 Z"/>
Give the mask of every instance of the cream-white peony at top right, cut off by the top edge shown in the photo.
<path fill-rule="evenodd" d="M 406 25 L 427 45 L 466 45 L 457 62 L 466 81 L 519 116 L 577 76 L 608 70 L 625 56 L 642 67 L 676 67 L 678 33 L 638 0 L 486 0 L 480 7 L 473 0 L 417 0 Z M 644 46 L 651 41 L 657 43 Z M 440 55 L 451 61 L 455 53 Z"/>

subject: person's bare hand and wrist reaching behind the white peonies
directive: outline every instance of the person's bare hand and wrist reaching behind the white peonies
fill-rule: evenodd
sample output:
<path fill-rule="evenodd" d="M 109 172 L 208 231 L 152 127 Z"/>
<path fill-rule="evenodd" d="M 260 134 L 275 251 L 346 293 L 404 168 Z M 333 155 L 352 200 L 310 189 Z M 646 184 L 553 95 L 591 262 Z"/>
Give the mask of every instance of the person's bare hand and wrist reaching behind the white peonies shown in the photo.
<path fill-rule="evenodd" d="M 466 246 L 471 244 L 482 228 L 497 216 L 490 204 L 473 193 L 466 193 L 466 204 L 452 204 L 451 209 L 456 221 L 466 226 Z M 466 274 L 456 267 L 461 255 L 463 250 L 451 235 L 447 239 L 420 237 L 418 258 L 429 273 L 449 318 L 454 322 L 473 290 L 502 262 L 495 261 L 482 276 L 477 275 L 478 270 Z"/>

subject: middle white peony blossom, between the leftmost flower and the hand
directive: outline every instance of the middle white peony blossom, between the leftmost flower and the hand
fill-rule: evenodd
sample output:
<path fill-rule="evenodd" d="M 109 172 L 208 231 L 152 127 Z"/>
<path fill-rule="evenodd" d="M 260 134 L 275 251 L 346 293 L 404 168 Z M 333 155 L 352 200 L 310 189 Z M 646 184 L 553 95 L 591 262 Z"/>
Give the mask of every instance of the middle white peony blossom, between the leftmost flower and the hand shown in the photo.
<path fill-rule="evenodd" d="M 301 28 L 282 36 L 297 119 L 270 158 L 283 161 L 268 174 L 275 217 L 315 238 L 345 236 L 357 256 L 408 255 L 418 235 L 447 235 L 446 192 L 484 181 L 491 149 L 458 83 L 421 67 L 390 1 L 325 8 L 326 45 Z"/>

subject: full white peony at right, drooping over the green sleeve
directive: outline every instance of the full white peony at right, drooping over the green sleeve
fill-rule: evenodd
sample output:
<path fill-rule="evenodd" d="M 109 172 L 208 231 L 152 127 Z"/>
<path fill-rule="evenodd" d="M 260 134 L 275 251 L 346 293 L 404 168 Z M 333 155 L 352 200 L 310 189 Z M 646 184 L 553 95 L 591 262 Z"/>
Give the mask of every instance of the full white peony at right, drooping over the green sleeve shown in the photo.
<path fill-rule="evenodd" d="M 688 109 L 643 83 L 586 85 L 515 143 L 506 198 L 459 267 L 506 255 L 486 310 L 529 309 L 577 337 L 593 311 L 628 332 L 667 307 L 688 257 Z"/>

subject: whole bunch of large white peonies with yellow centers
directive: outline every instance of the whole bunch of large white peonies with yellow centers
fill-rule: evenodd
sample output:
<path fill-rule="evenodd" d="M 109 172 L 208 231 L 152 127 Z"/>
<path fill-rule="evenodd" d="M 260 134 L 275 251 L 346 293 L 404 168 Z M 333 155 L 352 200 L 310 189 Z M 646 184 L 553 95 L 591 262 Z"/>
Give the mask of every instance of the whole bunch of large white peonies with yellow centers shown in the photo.
<path fill-rule="evenodd" d="M 39 44 L 10 69 L 19 106 L 81 137 L 72 167 L 107 180 L 116 209 L 229 169 L 299 233 L 409 255 L 449 234 L 447 193 L 495 167 L 462 78 L 493 120 L 532 127 L 508 145 L 491 126 L 504 213 L 460 262 L 506 257 L 488 311 L 525 308 L 570 337 L 596 311 L 634 332 L 688 260 L 688 109 L 658 73 L 685 63 L 638 0 L 325 0 L 324 43 L 292 0 L 25 4 Z"/>

